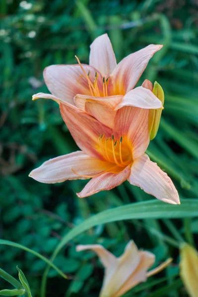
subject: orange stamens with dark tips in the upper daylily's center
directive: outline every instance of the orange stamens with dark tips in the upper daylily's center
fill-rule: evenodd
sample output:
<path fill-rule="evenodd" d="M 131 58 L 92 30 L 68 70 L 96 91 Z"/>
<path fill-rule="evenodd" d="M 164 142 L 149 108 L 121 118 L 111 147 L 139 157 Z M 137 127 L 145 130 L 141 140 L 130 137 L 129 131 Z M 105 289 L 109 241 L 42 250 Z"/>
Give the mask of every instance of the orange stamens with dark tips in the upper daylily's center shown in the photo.
<path fill-rule="evenodd" d="M 88 81 L 88 85 L 89 85 L 89 89 L 90 89 L 90 92 L 92 94 L 92 96 L 94 97 L 107 97 L 108 96 L 108 83 L 109 83 L 109 78 L 110 77 L 103 77 L 102 78 L 102 91 L 103 91 L 103 94 L 100 94 L 101 92 L 99 92 L 99 86 L 98 86 L 98 73 L 96 72 L 95 73 L 95 78 L 94 78 L 94 83 L 91 82 L 91 79 L 90 79 L 90 70 L 88 73 L 86 73 L 85 69 L 83 68 L 79 58 L 75 55 L 77 61 L 78 61 L 78 64 L 80 65 L 87 81 Z"/>

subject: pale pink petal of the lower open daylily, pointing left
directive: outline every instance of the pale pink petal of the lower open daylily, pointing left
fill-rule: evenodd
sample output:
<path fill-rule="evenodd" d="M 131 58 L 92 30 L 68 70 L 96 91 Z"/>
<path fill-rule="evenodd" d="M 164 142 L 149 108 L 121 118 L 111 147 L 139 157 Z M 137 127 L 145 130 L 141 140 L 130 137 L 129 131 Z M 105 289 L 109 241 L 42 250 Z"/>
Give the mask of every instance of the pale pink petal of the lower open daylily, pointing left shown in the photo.
<path fill-rule="evenodd" d="M 84 179 L 76 175 L 72 169 L 80 175 L 95 175 L 110 167 L 112 164 L 92 158 L 83 151 L 75 151 L 44 162 L 40 167 L 32 170 L 29 176 L 41 183 L 54 184 L 66 180 Z"/>

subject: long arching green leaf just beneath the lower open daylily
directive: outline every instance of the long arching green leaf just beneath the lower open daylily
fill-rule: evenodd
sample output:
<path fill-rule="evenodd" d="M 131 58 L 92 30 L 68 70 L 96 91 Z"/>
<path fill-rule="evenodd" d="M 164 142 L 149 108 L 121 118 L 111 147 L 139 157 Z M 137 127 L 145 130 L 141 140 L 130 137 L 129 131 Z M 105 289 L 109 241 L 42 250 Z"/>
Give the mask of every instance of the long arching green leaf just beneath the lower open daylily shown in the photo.
<path fill-rule="evenodd" d="M 59 245 L 53 252 L 51 261 L 54 260 L 58 252 L 65 246 L 70 240 L 75 238 L 80 233 L 97 226 L 99 224 L 106 224 L 109 222 L 132 220 L 132 219 L 146 219 L 146 218 L 183 218 L 183 217 L 197 217 L 198 216 L 198 199 L 188 198 L 181 199 L 181 205 L 174 205 L 152 199 L 149 201 L 142 201 L 136 203 L 130 203 L 123 206 L 104 210 L 89 219 L 85 220 L 82 224 L 73 228 L 67 233 Z M 45 297 L 46 283 L 49 267 L 44 272 L 41 296 Z"/>

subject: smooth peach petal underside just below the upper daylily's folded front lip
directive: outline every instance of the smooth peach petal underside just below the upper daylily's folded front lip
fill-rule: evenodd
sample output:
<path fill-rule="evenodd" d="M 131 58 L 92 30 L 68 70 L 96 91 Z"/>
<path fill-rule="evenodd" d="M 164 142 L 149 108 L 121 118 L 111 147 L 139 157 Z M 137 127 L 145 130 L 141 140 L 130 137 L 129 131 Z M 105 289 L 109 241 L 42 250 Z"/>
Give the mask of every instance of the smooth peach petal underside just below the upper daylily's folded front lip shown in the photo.
<path fill-rule="evenodd" d="M 113 128 L 116 111 L 96 102 L 85 103 L 85 111 L 97 119 L 100 123 Z"/>

